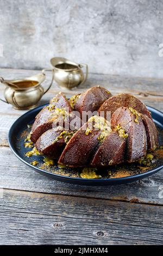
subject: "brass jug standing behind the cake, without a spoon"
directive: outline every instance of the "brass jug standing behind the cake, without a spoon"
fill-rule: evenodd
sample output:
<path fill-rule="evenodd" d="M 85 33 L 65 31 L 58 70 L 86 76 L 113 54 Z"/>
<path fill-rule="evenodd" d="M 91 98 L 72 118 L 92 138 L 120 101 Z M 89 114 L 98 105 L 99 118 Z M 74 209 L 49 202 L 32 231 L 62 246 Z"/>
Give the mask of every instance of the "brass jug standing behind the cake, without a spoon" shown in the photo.
<path fill-rule="evenodd" d="M 60 87 L 71 89 L 86 81 L 88 74 L 88 66 L 86 64 L 77 64 L 61 57 L 52 58 L 51 64 L 54 67 L 54 80 Z M 85 75 L 83 68 L 85 68 Z"/>

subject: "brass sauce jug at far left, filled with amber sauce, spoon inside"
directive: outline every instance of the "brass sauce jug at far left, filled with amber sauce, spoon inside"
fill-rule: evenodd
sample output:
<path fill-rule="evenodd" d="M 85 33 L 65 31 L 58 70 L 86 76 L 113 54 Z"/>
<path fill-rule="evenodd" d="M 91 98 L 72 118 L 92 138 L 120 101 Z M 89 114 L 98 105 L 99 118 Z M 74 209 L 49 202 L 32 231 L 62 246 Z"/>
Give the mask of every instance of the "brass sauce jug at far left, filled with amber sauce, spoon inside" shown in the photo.
<path fill-rule="evenodd" d="M 45 81 L 45 71 L 52 71 L 52 81 L 46 90 L 43 89 L 42 83 Z M 40 74 L 26 77 L 17 80 L 4 80 L 0 77 L 0 82 L 6 86 L 4 90 L 5 100 L 0 99 L 6 103 L 12 104 L 16 109 L 30 109 L 36 106 L 49 88 L 51 88 L 54 78 L 54 70 L 44 69 Z"/>

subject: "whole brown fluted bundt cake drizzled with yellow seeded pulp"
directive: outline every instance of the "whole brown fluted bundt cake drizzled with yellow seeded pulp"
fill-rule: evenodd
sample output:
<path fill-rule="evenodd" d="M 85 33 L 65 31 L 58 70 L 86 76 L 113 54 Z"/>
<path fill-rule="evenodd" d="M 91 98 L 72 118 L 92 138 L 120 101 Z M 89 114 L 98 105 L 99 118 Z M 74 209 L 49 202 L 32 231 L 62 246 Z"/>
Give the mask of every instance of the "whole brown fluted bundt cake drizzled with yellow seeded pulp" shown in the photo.
<path fill-rule="evenodd" d="M 93 113 L 83 122 L 83 111 L 99 115 Z M 111 120 L 105 119 L 107 111 Z M 70 100 L 57 94 L 37 114 L 30 137 L 39 153 L 68 167 L 131 163 L 158 147 L 158 132 L 146 106 L 133 95 L 112 96 L 100 86 Z"/>

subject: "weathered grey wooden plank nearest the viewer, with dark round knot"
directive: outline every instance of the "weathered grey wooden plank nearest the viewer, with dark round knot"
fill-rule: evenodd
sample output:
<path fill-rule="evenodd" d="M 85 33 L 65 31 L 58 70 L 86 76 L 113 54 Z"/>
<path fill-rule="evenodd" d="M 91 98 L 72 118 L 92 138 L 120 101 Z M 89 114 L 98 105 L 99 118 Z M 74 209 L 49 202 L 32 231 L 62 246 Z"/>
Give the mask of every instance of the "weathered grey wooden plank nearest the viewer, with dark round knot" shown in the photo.
<path fill-rule="evenodd" d="M 3 245 L 162 245 L 161 206 L 3 191 Z"/>

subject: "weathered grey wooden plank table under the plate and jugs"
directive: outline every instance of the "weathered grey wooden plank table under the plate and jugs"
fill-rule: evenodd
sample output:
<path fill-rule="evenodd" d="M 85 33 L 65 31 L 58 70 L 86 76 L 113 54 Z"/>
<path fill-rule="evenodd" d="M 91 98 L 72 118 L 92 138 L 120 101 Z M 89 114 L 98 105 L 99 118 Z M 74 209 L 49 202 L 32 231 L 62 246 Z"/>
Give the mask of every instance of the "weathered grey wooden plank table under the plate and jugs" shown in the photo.
<path fill-rule="evenodd" d="M 5 78 L 34 70 L 0 69 Z M 51 80 L 47 76 L 45 85 Z M 130 92 L 163 111 L 163 80 L 90 74 L 76 91 L 54 83 L 40 104 L 60 90 L 67 96 L 101 84 L 112 94 Z M 4 87 L 1 85 L 0 93 Z M 25 111 L 0 102 L 0 244 L 142 245 L 163 243 L 163 173 L 118 186 L 65 184 L 37 174 L 12 154 L 10 125 Z"/>

